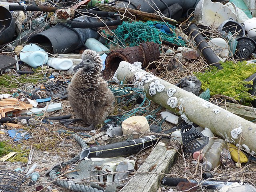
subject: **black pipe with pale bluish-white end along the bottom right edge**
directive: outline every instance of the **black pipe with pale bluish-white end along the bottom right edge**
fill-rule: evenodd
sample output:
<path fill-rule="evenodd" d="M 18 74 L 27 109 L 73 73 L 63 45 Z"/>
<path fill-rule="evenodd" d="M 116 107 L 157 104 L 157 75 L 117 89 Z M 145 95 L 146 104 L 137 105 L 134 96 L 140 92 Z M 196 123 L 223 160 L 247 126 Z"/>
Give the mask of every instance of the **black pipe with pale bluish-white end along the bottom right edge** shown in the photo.
<path fill-rule="evenodd" d="M 192 180 L 192 179 L 188 181 L 187 179 L 183 179 L 183 178 L 171 178 L 171 177 L 164 177 L 161 181 L 161 184 L 168 185 L 168 186 L 177 186 L 179 182 L 191 182 L 194 184 L 200 184 L 202 185 L 202 187 L 205 187 L 207 189 L 218 189 L 218 190 L 220 190 L 222 187 L 226 185 L 234 184 L 233 182 L 216 181 L 216 180 L 202 180 L 198 183 L 196 180 Z"/>

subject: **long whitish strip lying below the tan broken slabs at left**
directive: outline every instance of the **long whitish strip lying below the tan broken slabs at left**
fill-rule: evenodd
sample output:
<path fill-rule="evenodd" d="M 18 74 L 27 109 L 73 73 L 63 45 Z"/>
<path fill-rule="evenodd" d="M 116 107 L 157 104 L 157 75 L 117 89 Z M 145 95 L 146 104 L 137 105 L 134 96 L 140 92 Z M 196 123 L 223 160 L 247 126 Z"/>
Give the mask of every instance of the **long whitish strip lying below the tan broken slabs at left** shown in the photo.
<path fill-rule="evenodd" d="M 61 102 L 49 104 L 48 106 L 45 106 L 44 108 L 31 108 L 30 110 L 21 110 L 20 114 L 31 115 L 31 114 L 39 114 L 44 111 L 51 112 L 51 111 L 56 111 L 56 110 L 60 110 L 60 109 L 62 109 Z"/>

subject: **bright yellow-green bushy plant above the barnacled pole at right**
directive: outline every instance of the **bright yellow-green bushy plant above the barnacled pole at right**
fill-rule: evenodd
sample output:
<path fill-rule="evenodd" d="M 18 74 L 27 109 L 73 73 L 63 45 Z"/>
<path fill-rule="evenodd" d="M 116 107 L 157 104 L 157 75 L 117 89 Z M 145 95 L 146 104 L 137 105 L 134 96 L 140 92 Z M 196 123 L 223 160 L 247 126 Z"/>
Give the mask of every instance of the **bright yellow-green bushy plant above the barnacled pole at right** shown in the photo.
<path fill-rule="evenodd" d="M 222 70 L 216 67 L 210 67 L 210 70 L 204 73 L 195 74 L 202 82 L 202 90 L 210 89 L 211 95 L 221 94 L 229 96 L 242 102 L 250 102 L 254 98 L 248 93 L 249 88 L 246 84 L 252 84 L 252 81 L 244 81 L 246 78 L 256 73 L 256 64 L 247 64 L 244 62 L 234 63 L 232 61 L 222 62 Z"/>

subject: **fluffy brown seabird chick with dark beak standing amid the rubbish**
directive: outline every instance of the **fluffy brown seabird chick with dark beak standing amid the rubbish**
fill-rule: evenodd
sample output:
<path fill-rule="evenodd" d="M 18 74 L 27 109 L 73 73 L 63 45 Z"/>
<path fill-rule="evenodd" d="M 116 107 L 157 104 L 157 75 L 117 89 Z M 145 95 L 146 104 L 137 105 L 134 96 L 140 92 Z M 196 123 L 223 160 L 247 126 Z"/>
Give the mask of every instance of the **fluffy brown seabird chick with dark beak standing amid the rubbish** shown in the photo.
<path fill-rule="evenodd" d="M 103 123 L 114 109 L 114 95 L 106 81 L 100 76 L 102 70 L 100 56 L 93 50 L 85 50 L 82 62 L 74 67 L 75 75 L 68 86 L 68 100 L 75 114 L 92 130 Z"/>

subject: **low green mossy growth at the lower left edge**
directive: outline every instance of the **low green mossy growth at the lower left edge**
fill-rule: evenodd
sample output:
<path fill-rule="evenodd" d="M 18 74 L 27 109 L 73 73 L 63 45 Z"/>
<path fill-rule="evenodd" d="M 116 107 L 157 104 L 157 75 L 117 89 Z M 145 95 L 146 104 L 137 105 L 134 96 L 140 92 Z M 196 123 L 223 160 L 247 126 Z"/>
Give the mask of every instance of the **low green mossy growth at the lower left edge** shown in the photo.
<path fill-rule="evenodd" d="M 2 143 L 2 146 L 1 146 Z M 26 149 L 22 144 L 12 144 L 7 141 L 0 142 L 0 157 L 9 154 L 10 152 L 17 152 L 16 156 L 11 157 L 7 161 L 10 162 L 28 162 L 29 149 Z"/>

